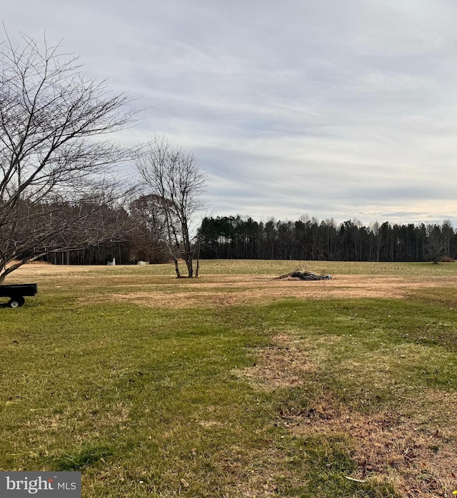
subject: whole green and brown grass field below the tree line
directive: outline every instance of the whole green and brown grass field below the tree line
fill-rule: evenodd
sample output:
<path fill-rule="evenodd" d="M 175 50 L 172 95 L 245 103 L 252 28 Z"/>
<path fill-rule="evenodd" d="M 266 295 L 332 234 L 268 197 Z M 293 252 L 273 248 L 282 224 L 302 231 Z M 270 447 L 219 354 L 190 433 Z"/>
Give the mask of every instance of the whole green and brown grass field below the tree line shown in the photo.
<path fill-rule="evenodd" d="M 332 280 L 276 277 L 303 268 Z M 457 265 L 29 265 L 0 309 L 0 469 L 83 497 L 451 497 Z"/>

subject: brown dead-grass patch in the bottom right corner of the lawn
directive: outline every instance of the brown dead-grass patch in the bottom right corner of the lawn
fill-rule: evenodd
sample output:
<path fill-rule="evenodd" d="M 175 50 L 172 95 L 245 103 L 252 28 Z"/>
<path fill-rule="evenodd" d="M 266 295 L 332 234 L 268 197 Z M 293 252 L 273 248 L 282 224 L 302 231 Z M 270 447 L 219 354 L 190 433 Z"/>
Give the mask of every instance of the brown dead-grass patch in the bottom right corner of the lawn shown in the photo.
<path fill-rule="evenodd" d="M 405 497 L 450 497 L 457 486 L 457 444 L 453 432 L 394 412 L 363 415 L 331 401 L 299 414 L 283 414 L 296 434 L 350 435 L 358 479 L 388 481 Z"/>

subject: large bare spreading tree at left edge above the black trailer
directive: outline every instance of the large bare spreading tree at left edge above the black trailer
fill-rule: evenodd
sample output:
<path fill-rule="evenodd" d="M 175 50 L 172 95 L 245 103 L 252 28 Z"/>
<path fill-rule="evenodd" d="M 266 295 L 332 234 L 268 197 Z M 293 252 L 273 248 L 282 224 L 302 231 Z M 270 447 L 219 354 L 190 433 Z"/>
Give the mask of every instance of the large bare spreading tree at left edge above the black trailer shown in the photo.
<path fill-rule="evenodd" d="M 45 253 L 116 236 L 111 166 L 126 151 L 106 135 L 134 117 L 131 98 L 87 78 L 77 56 L 22 42 L 0 47 L 0 283 Z"/>

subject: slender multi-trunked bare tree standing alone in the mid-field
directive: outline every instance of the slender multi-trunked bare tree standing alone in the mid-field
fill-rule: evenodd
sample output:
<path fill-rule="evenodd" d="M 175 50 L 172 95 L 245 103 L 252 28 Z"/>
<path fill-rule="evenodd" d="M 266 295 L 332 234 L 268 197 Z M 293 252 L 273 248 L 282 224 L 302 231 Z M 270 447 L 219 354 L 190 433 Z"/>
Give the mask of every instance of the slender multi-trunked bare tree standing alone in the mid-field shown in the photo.
<path fill-rule="evenodd" d="M 204 208 L 204 173 L 192 153 L 174 148 L 158 136 L 144 146 L 135 163 L 144 189 L 154 196 L 150 199 L 154 199 L 158 233 L 174 261 L 176 276 L 181 278 L 179 258 L 183 258 L 189 278 L 194 277 L 198 244 L 191 228 L 196 214 Z"/>

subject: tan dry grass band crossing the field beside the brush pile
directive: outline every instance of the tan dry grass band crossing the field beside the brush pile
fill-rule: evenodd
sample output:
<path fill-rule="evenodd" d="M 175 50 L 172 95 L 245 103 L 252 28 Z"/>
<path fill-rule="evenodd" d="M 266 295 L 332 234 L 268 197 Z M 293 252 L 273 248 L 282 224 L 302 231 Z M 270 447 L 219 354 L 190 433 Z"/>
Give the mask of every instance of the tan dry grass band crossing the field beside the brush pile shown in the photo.
<path fill-rule="evenodd" d="M 104 287 L 107 291 L 103 295 L 86 293 L 85 302 L 112 300 L 170 308 L 231 306 L 283 298 L 404 298 L 414 290 L 457 286 L 454 275 L 338 274 L 332 280 L 296 281 L 278 280 L 278 275 L 205 273 L 199 279 L 178 280 L 172 275 L 131 272 L 136 272 L 136 267 L 30 264 L 16 270 L 11 283 L 33 280 L 54 287 L 64 281 L 66 288 Z"/>

